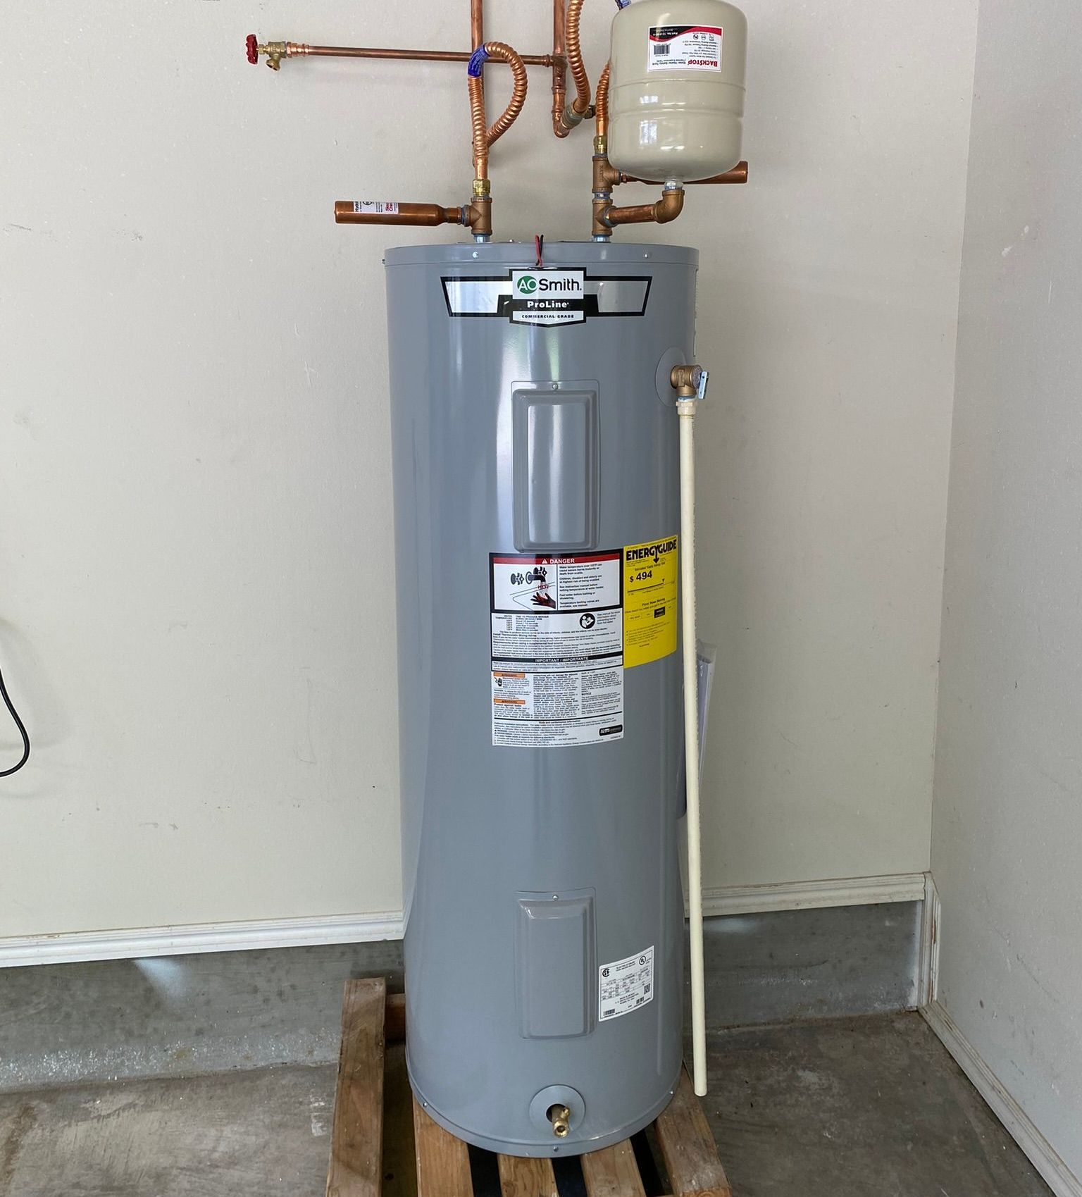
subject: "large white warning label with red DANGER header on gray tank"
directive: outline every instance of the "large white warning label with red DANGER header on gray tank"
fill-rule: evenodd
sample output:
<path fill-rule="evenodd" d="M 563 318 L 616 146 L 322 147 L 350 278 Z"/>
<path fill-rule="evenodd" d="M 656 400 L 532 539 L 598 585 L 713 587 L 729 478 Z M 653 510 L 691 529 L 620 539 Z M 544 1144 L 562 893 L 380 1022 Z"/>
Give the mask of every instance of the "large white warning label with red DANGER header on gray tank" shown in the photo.
<path fill-rule="evenodd" d="M 490 554 L 492 742 L 624 739 L 622 553 Z"/>

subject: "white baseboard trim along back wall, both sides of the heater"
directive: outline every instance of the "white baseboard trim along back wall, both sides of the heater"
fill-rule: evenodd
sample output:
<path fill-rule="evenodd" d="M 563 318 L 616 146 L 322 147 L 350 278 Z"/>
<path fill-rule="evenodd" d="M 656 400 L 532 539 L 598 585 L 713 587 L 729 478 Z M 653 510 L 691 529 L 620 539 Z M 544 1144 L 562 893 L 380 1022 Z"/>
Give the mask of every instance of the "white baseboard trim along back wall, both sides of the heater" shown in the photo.
<path fill-rule="evenodd" d="M 759 915 L 776 910 L 920 901 L 924 898 L 924 886 L 923 873 L 768 886 L 724 886 L 704 891 L 703 913 L 717 917 Z M 75 964 L 85 960 L 140 960 L 145 956 L 176 956 L 195 952 L 298 948 L 317 943 L 366 943 L 401 937 L 401 911 L 251 923 L 195 923 L 120 931 L 78 931 L 0 938 L 0 968 Z"/>

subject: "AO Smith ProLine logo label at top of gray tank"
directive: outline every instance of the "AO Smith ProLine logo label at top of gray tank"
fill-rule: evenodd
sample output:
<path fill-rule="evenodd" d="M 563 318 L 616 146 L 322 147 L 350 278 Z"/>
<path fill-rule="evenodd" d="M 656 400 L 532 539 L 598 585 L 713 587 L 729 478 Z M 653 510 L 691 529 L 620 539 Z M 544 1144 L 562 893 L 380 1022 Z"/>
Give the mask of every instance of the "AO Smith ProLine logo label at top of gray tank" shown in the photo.
<path fill-rule="evenodd" d="M 585 271 L 509 271 L 485 278 L 444 278 L 449 316 L 497 317 L 546 328 L 600 316 L 642 316 L 649 278 L 600 278 Z"/>

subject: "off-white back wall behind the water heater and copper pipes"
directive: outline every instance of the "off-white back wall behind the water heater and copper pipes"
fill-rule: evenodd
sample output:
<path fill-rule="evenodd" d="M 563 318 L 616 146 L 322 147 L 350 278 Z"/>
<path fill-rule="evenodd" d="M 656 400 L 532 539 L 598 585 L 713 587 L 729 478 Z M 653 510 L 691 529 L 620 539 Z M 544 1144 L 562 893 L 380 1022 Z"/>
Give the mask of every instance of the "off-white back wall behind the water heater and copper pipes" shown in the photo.
<path fill-rule="evenodd" d="M 701 247 L 719 381 L 706 882 L 919 871 L 974 0 L 747 7 L 752 184 L 631 233 Z M 488 34 L 537 51 L 548 13 L 492 0 Z M 6 6 L 0 652 L 36 747 L 0 783 L 0 937 L 399 905 L 379 259 L 407 238 L 329 213 L 463 196 L 464 77 L 275 77 L 242 44 L 466 26 L 464 0 Z M 534 79 L 498 235 L 578 237 L 589 134 L 549 138 Z"/>

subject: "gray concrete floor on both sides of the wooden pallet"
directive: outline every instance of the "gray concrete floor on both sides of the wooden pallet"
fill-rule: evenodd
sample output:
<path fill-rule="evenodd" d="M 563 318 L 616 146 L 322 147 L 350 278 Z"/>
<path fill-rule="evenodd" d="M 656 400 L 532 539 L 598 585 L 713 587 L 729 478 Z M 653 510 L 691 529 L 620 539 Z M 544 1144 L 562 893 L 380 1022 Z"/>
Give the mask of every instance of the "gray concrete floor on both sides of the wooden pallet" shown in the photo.
<path fill-rule="evenodd" d="M 1048 1197 L 919 1015 L 715 1031 L 710 1078 L 736 1197 Z M 288 1065 L 0 1094 L 0 1195 L 322 1197 L 334 1080 Z M 385 1193 L 400 1197 L 401 1049 L 388 1087 Z"/>

